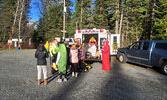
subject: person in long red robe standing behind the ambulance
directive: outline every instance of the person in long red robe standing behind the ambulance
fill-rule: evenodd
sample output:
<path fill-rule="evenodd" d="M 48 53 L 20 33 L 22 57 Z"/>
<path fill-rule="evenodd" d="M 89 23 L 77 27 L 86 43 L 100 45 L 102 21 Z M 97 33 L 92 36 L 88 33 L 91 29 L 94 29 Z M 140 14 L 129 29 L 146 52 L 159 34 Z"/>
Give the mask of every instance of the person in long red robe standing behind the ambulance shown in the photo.
<path fill-rule="evenodd" d="M 110 46 L 108 45 L 108 41 L 105 42 L 105 46 L 102 50 L 102 70 L 111 70 Z"/>

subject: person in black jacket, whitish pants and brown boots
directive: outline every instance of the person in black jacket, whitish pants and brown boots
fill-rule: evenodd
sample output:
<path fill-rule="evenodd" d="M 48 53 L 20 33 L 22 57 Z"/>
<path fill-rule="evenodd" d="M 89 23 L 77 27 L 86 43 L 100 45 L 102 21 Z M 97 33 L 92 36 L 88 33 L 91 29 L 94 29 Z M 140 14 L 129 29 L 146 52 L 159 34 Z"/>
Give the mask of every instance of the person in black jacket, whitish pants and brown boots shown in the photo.
<path fill-rule="evenodd" d="M 47 61 L 48 53 L 44 47 L 44 45 L 40 44 L 38 49 L 35 52 L 35 57 L 37 58 L 37 71 L 38 71 L 38 85 L 41 84 L 41 72 L 43 70 L 44 74 L 44 84 L 47 84 Z"/>

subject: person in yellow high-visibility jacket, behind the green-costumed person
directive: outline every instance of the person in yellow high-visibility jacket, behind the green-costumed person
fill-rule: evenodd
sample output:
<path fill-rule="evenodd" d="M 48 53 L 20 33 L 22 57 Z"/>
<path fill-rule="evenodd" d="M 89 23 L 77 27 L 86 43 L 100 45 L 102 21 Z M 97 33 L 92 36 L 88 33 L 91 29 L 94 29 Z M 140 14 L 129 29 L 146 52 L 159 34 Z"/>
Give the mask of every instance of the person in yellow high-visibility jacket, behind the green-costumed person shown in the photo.
<path fill-rule="evenodd" d="M 57 54 L 59 51 L 57 39 L 54 39 L 54 41 L 53 41 L 53 43 L 51 43 L 49 49 L 50 49 L 49 52 L 50 52 L 51 73 L 54 74 L 56 72 L 55 70 L 57 70 L 56 60 L 57 60 Z"/>

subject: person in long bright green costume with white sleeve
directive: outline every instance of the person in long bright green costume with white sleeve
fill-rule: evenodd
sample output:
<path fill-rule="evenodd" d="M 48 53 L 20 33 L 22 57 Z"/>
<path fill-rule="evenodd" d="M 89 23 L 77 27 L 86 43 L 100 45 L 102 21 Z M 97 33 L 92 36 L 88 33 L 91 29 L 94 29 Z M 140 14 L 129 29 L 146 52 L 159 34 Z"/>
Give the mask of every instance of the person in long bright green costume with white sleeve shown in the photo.
<path fill-rule="evenodd" d="M 66 66 L 67 66 L 67 50 L 65 44 L 60 44 L 59 46 L 59 52 L 57 56 L 56 65 L 58 66 L 58 71 L 60 73 L 60 79 L 58 79 L 58 82 L 62 82 L 62 76 L 64 75 L 64 81 L 67 81 L 66 77 Z"/>

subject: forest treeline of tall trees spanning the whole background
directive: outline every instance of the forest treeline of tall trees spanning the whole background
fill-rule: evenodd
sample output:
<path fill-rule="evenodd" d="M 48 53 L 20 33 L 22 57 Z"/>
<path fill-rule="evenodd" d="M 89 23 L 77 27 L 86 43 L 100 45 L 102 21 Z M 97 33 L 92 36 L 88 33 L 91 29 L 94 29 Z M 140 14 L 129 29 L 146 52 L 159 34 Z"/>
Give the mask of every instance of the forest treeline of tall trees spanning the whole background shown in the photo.
<path fill-rule="evenodd" d="M 0 1 L 1 42 L 18 38 L 19 34 L 23 40 L 34 42 L 63 36 L 63 0 L 39 1 L 42 16 L 32 25 L 27 24 L 31 0 Z M 121 34 L 122 45 L 167 39 L 167 0 L 65 1 L 66 37 L 73 37 L 76 29 L 104 28 Z"/>

